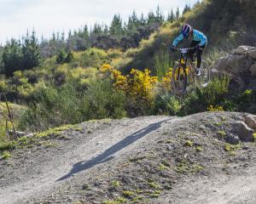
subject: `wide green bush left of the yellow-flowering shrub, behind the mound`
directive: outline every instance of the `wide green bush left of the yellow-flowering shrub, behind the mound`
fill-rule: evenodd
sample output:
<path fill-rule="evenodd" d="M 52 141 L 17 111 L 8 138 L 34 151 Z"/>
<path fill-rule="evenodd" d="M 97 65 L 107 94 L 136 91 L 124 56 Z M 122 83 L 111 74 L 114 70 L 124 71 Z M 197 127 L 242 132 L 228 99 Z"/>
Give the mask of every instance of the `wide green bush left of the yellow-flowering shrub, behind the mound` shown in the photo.
<path fill-rule="evenodd" d="M 87 90 L 79 91 L 76 82 L 62 88 L 42 88 L 34 94 L 37 103 L 29 105 L 20 117 L 23 130 L 43 131 L 64 124 L 91 119 L 126 116 L 124 94 L 114 90 L 108 80 L 90 82 Z"/>

